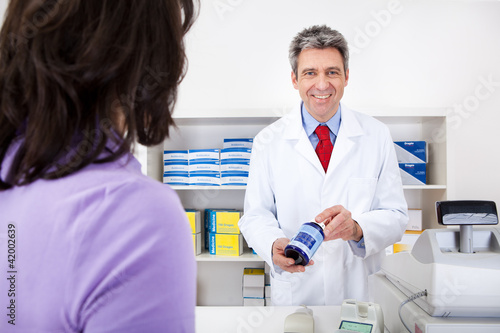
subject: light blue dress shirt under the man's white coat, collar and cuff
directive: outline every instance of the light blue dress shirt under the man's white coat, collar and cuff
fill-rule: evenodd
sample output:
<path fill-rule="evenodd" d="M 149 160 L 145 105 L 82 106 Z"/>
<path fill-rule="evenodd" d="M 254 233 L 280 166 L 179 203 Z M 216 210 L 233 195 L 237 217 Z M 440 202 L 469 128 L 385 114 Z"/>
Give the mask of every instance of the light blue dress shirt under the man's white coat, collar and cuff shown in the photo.
<path fill-rule="evenodd" d="M 335 146 L 335 141 L 337 140 L 337 136 L 339 134 L 340 122 L 342 121 L 342 108 L 340 104 L 339 104 L 339 109 L 337 110 L 335 115 L 331 117 L 326 123 L 321 123 L 316 119 L 314 119 L 314 117 L 311 116 L 309 112 L 307 112 L 304 103 L 302 103 L 301 111 L 302 111 L 302 126 L 304 127 L 307 137 L 309 138 L 309 141 L 311 141 L 314 150 L 316 150 L 316 146 L 319 143 L 318 136 L 314 133 L 318 125 L 328 126 L 328 129 L 330 130 L 330 141 L 332 141 L 333 146 Z M 349 241 L 349 243 L 355 254 L 362 257 L 365 256 L 366 249 L 365 249 L 364 237 L 361 237 L 359 242 L 351 240 Z"/>

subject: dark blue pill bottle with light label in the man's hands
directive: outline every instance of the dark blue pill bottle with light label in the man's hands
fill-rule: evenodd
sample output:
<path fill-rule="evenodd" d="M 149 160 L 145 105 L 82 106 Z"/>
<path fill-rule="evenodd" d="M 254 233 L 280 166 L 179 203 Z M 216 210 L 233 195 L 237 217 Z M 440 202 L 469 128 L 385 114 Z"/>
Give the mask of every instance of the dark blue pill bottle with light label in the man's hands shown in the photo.
<path fill-rule="evenodd" d="M 285 247 L 285 256 L 295 260 L 295 265 L 307 265 L 325 239 L 323 223 L 306 222 Z"/>

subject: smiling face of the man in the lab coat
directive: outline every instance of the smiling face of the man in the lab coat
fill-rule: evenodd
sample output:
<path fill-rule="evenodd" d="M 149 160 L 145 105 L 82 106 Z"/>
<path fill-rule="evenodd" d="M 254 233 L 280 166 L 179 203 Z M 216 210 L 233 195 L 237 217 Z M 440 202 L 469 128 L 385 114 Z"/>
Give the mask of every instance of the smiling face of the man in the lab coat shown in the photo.
<path fill-rule="evenodd" d="M 292 71 L 294 88 L 319 122 L 335 115 L 348 80 L 349 70 L 344 73 L 344 61 L 335 48 L 303 50 L 297 60 L 297 76 Z"/>

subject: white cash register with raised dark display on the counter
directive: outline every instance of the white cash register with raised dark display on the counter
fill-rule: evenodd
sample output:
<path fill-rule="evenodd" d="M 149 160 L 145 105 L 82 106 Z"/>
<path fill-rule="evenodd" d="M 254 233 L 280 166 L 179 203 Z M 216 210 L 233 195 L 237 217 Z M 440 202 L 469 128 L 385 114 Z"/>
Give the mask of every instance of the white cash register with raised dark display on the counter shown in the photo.
<path fill-rule="evenodd" d="M 492 201 L 440 201 L 438 223 L 370 279 L 389 332 L 500 332 L 500 233 Z M 450 227 L 453 226 L 453 227 Z"/>

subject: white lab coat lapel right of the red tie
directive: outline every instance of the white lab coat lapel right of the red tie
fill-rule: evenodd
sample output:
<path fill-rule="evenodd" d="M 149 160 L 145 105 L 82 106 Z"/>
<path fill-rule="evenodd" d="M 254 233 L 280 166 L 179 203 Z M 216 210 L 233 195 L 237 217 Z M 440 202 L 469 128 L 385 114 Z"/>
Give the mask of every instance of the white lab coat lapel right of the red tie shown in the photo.
<path fill-rule="evenodd" d="M 342 160 L 356 144 L 356 137 L 364 134 L 358 119 L 349 108 L 344 106 L 344 104 L 342 104 L 341 112 L 342 120 L 340 122 L 337 140 L 333 147 L 330 164 L 328 165 L 327 175 L 335 173 L 335 169 L 342 164 Z"/>

